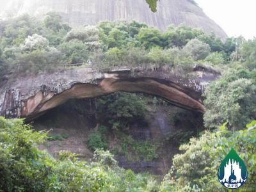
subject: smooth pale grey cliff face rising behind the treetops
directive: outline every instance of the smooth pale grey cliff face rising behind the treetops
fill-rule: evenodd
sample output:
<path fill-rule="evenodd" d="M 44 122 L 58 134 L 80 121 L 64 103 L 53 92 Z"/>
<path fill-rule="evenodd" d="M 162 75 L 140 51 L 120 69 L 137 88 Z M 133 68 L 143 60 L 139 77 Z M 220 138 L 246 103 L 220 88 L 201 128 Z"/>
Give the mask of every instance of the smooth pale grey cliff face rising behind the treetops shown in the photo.
<path fill-rule="evenodd" d="M 227 35 L 191 0 L 161 0 L 157 12 L 151 12 L 145 0 L 10 0 L 0 3 L 0 18 L 29 13 L 42 16 L 58 12 L 72 26 L 96 24 L 100 20 L 137 20 L 165 30 L 170 24 L 185 24 L 213 32 L 221 38 Z"/>

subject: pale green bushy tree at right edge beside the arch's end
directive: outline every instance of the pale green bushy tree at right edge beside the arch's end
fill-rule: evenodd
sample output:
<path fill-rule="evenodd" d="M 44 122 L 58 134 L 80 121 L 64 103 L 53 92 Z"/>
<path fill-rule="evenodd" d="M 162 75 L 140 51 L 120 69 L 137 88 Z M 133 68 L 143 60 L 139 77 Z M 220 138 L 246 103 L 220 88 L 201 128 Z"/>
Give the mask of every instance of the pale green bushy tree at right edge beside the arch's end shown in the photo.
<path fill-rule="evenodd" d="M 205 127 L 242 127 L 256 118 L 256 85 L 246 70 L 228 70 L 205 90 Z"/>

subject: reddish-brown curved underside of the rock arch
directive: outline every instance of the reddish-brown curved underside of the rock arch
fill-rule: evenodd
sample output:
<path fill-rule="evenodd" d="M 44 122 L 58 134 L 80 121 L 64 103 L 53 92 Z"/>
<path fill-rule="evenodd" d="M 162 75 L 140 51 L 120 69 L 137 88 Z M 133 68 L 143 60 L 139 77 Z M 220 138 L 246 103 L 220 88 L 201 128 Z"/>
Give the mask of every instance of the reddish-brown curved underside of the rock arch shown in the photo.
<path fill-rule="evenodd" d="M 156 95 L 180 108 L 204 113 L 205 108 L 200 99 L 200 93 L 192 88 L 186 88 L 172 81 L 163 79 L 137 78 L 104 78 L 96 83 L 76 83 L 70 89 L 54 95 L 54 93 L 38 92 L 24 102 L 21 114 L 31 120 L 55 108 L 69 99 L 84 99 L 100 97 L 115 92 L 145 93 Z"/>

